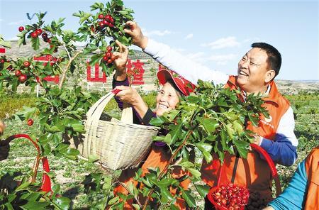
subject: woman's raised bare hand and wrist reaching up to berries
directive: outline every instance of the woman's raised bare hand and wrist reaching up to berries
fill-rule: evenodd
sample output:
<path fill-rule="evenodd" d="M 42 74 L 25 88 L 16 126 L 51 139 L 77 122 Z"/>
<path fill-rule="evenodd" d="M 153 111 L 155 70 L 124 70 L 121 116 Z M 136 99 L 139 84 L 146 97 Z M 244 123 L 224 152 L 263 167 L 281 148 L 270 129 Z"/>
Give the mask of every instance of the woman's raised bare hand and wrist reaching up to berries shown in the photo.
<path fill-rule="evenodd" d="M 126 78 L 126 62 L 128 62 L 128 48 L 116 40 L 116 45 L 120 48 L 120 52 L 113 52 L 116 60 L 113 61 L 116 67 L 114 78 L 118 81 L 123 81 Z"/>

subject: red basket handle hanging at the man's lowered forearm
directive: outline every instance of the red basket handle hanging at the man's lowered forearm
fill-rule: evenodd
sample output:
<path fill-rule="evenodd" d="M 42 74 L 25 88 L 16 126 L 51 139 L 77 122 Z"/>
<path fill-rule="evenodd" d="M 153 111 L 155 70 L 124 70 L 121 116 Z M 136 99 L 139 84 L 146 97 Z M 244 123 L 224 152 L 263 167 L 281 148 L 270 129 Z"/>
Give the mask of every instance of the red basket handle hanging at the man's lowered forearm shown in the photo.
<path fill-rule="evenodd" d="M 274 165 L 274 161 L 272 160 L 272 157 L 269 156 L 266 150 L 264 150 L 262 147 L 260 147 L 259 145 L 255 143 L 250 143 L 250 147 L 253 150 L 256 150 L 257 153 L 262 154 L 264 156 L 264 159 L 266 160 L 267 164 L 269 165 L 270 171 L 272 172 L 272 178 L 274 179 L 274 182 L 276 185 L 276 197 L 278 197 L 279 194 L 281 194 L 281 184 L 280 184 L 278 172 L 276 170 L 276 166 Z M 220 166 L 220 170 L 218 172 L 217 186 L 219 186 L 220 184 L 222 171 L 225 170 L 224 167 L 225 167 L 224 164 Z"/>

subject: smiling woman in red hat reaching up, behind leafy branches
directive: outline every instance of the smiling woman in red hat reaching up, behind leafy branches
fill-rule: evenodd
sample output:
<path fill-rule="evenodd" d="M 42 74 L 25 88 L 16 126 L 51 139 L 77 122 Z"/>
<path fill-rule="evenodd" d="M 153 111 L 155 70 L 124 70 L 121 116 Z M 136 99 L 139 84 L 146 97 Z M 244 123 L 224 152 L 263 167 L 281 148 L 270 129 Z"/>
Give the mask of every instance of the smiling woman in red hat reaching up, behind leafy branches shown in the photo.
<path fill-rule="evenodd" d="M 156 101 L 157 106 L 155 111 L 152 111 L 147 107 L 145 101 L 142 100 L 140 94 L 133 87 L 128 87 L 128 77 L 126 76 L 126 62 L 128 61 L 128 48 L 116 41 L 116 44 L 120 47 L 120 52 L 114 52 L 117 57 L 114 60 L 114 65 L 116 67 L 116 73 L 113 77 L 113 88 L 121 89 L 116 95 L 116 101 L 120 108 L 123 107 L 123 102 L 133 106 L 134 123 L 149 125 L 151 118 L 156 116 L 162 116 L 164 112 L 175 109 L 179 103 L 179 98 L 181 96 L 187 96 L 190 92 L 193 92 L 194 84 L 191 84 L 188 80 L 180 77 L 178 74 L 170 70 L 160 70 L 157 72 L 157 79 L 159 83 L 162 84 L 162 89 L 160 89 L 157 94 Z M 155 142 L 152 145 L 152 150 L 147 156 L 145 162 L 142 163 L 142 175 L 145 175 L 148 167 L 159 167 L 163 170 L 165 165 L 168 164 L 169 158 L 171 157 L 171 152 L 168 146 L 163 142 Z M 136 169 L 123 170 L 121 176 L 119 177 L 120 182 L 128 184 L 128 182 L 134 182 L 133 177 Z M 185 175 L 186 172 L 181 170 L 181 168 L 174 169 L 174 178 L 179 178 Z M 189 185 L 189 180 L 186 179 L 181 182 L 181 187 L 187 187 Z M 137 184 L 136 182 L 134 184 Z M 114 194 L 122 193 L 127 194 L 127 190 L 118 185 L 114 189 Z M 172 192 L 174 193 L 174 192 Z M 132 201 L 133 202 L 133 201 Z M 177 199 L 176 205 L 179 209 L 185 209 L 185 203 L 182 199 Z M 125 204 L 125 209 L 134 209 L 131 204 Z"/>

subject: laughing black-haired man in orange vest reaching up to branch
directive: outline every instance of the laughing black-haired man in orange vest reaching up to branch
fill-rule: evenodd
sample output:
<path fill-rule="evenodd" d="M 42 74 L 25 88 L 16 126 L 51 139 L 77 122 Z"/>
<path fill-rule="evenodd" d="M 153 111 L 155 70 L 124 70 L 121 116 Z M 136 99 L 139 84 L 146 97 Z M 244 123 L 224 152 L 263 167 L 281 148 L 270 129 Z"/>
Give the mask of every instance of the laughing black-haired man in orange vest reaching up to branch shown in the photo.
<path fill-rule="evenodd" d="M 267 43 L 253 43 L 252 49 L 238 62 L 237 76 L 229 76 L 198 65 L 168 45 L 147 38 L 135 22 L 128 21 L 127 26 L 125 33 L 133 38 L 135 45 L 193 84 L 201 79 L 211 80 L 214 84 L 225 84 L 230 89 L 239 88 L 244 100 L 247 94 L 262 93 L 263 106 L 269 111 L 269 118 L 262 116 L 257 128 L 248 125 L 247 129 L 257 133 L 254 143 L 264 148 L 274 162 L 293 165 L 297 157 L 298 140 L 293 133 L 293 110 L 289 101 L 278 92 L 274 82 L 281 67 L 281 55 L 276 48 Z M 267 162 L 259 154 L 249 153 L 246 160 L 228 154 L 225 156 L 225 164 L 227 167 L 221 182 L 232 181 L 247 186 L 251 191 L 262 193 L 263 197 L 272 196 L 271 172 Z M 201 170 L 203 181 L 213 187 L 219 168 L 220 162 L 216 158 L 210 163 L 204 161 Z"/>

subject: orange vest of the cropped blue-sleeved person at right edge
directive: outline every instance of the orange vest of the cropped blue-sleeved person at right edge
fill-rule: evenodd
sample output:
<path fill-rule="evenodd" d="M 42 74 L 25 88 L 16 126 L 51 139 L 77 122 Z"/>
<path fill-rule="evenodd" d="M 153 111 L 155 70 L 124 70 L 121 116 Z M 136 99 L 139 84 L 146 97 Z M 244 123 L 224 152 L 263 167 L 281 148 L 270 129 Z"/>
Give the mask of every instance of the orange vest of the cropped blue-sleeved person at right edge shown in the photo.
<path fill-rule="evenodd" d="M 306 159 L 308 192 L 305 210 L 319 209 L 319 146 L 314 148 Z"/>

